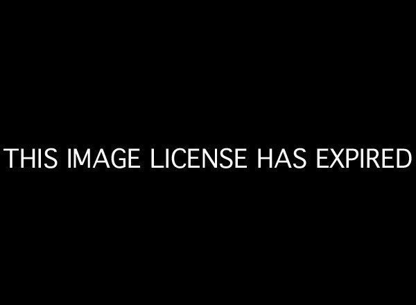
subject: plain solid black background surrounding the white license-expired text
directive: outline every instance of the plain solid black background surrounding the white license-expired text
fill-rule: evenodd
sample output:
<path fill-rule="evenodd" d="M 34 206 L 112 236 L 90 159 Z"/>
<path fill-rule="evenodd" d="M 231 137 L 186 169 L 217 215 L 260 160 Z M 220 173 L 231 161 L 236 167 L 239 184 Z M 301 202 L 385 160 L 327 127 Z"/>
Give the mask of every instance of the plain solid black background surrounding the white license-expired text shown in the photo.
<path fill-rule="evenodd" d="M 414 153 L 410 19 L 172 9 L 20 8 L 2 38 L 1 148 L 247 147 L 250 169 L 3 166 L 8 286 L 116 299 L 406 290 L 414 165 L 319 171 L 314 151 Z M 297 147 L 304 171 L 255 169 L 257 148 Z"/>

